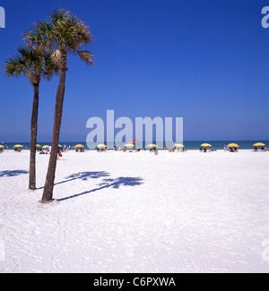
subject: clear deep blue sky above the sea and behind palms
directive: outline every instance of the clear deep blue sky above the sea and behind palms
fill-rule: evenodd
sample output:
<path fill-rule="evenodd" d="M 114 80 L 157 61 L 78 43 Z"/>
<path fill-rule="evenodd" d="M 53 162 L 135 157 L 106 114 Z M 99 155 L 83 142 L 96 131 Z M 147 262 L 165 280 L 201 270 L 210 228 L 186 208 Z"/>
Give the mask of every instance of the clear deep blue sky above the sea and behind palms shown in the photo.
<path fill-rule="evenodd" d="M 0 140 L 30 141 L 33 90 L 7 80 L 22 32 L 63 7 L 90 26 L 92 68 L 69 59 L 61 141 L 85 141 L 91 116 L 182 116 L 185 140 L 269 140 L 265 0 L 0 0 Z M 39 142 L 51 141 L 57 77 L 42 81 Z"/>

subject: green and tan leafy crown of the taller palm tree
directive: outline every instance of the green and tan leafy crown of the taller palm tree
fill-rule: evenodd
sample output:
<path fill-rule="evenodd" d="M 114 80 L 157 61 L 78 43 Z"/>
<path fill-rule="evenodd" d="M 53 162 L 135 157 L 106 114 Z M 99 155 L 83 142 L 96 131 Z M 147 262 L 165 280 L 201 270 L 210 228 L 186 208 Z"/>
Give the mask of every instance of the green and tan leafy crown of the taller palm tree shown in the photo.
<path fill-rule="evenodd" d="M 24 33 L 24 39 L 29 41 L 31 46 L 46 49 L 54 63 L 65 71 L 68 70 L 68 55 L 79 56 L 84 63 L 93 64 L 91 51 L 83 49 L 91 46 L 91 30 L 65 9 L 52 12 L 47 21 L 33 24 L 32 29 Z"/>

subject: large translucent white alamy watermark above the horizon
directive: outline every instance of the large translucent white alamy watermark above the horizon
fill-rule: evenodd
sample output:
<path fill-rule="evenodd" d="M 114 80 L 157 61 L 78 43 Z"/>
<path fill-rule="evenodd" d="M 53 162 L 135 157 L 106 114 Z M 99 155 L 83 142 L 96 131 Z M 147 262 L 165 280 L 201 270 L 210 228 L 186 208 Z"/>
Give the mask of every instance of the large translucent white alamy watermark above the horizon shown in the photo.
<path fill-rule="evenodd" d="M 96 149 L 98 144 L 105 141 L 110 150 L 114 149 L 115 145 L 122 145 L 125 142 L 134 143 L 135 149 L 142 149 L 143 142 L 155 143 L 160 149 L 171 146 L 174 141 L 183 143 L 182 117 L 176 117 L 175 120 L 172 117 L 160 116 L 135 117 L 133 123 L 129 117 L 124 116 L 115 120 L 114 110 L 108 110 L 105 122 L 100 117 L 91 117 L 87 121 L 86 128 L 91 129 L 86 140 L 90 150 Z"/>

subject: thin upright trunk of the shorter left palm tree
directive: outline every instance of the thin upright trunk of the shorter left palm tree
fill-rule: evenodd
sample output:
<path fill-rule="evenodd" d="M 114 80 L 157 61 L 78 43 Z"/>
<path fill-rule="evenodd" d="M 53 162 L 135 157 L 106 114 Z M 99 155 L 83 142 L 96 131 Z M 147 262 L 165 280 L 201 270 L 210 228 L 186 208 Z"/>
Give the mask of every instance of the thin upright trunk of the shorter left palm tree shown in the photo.
<path fill-rule="evenodd" d="M 31 112 L 30 123 L 30 171 L 29 171 L 29 189 L 36 189 L 36 150 L 38 136 L 38 115 L 39 115 L 39 83 L 33 84 L 34 98 Z"/>

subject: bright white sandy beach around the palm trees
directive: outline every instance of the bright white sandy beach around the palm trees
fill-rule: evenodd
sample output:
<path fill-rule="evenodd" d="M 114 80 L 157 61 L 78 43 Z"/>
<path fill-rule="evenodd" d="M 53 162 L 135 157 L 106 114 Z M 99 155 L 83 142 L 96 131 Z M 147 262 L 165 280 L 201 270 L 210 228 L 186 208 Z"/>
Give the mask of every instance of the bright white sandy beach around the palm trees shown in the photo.
<path fill-rule="evenodd" d="M 269 272 L 269 153 L 0 155 L 0 272 Z M 269 255 L 269 252 L 268 252 Z"/>

